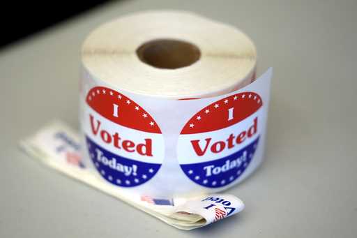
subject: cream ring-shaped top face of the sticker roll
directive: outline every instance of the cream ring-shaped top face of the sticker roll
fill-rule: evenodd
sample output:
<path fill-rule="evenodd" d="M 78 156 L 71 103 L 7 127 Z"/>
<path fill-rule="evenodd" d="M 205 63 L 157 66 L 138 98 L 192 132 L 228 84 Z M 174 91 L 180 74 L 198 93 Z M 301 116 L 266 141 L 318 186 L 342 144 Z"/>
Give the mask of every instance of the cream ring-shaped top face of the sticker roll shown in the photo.
<path fill-rule="evenodd" d="M 175 70 L 144 64 L 138 48 L 158 39 L 195 45 L 199 60 Z M 257 53 L 252 40 L 234 27 L 192 13 L 149 11 L 95 29 L 84 42 L 82 61 L 91 75 L 123 91 L 159 98 L 204 98 L 249 84 Z"/>

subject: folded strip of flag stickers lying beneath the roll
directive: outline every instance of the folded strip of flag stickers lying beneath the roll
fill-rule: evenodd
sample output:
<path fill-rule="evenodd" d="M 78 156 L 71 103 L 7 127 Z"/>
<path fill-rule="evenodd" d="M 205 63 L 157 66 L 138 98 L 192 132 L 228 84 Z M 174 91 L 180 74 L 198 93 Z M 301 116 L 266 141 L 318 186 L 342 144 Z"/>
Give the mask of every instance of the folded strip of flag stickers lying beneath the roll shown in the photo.
<path fill-rule="evenodd" d="M 23 140 L 21 146 L 54 170 L 82 181 L 137 207 L 151 216 L 181 230 L 192 230 L 234 215 L 244 208 L 234 195 L 200 195 L 195 198 L 151 198 L 128 193 L 105 183 L 82 163 L 79 136 L 65 124 L 54 121 L 35 135 Z"/>

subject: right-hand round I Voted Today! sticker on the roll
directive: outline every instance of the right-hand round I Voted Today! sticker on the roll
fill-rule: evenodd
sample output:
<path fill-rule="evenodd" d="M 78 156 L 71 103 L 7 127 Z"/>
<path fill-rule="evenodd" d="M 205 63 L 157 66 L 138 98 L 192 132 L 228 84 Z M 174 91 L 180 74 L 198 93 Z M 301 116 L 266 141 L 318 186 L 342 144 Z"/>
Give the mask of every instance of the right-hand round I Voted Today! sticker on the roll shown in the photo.
<path fill-rule="evenodd" d="M 227 186 L 249 167 L 259 143 L 261 97 L 243 92 L 197 112 L 179 135 L 177 158 L 196 184 Z"/>

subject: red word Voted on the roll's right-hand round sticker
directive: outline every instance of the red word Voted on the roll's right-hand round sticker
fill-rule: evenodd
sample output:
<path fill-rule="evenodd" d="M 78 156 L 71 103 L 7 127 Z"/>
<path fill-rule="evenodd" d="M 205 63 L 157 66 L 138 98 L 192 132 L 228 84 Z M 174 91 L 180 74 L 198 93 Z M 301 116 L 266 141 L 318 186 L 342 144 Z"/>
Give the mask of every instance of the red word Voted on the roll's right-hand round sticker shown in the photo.
<path fill-rule="evenodd" d="M 211 143 L 212 138 L 208 137 L 204 139 L 203 142 L 201 142 L 201 140 L 191 140 L 190 142 L 197 156 L 204 156 L 208 147 L 212 153 L 217 154 L 223 151 L 226 147 L 227 149 L 231 149 L 235 146 L 235 144 L 241 144 L 245 139 L 255 135 L 257 133 L 257 126 L 258 118 L 255 117 L 252 126 L 250 126 L 247 131 L 241 131 L 237 135 L 231 133 L 226 140 L 219 140 Z M 204 144 L 204 146 L 201 147 L 200 144 Z"/>

